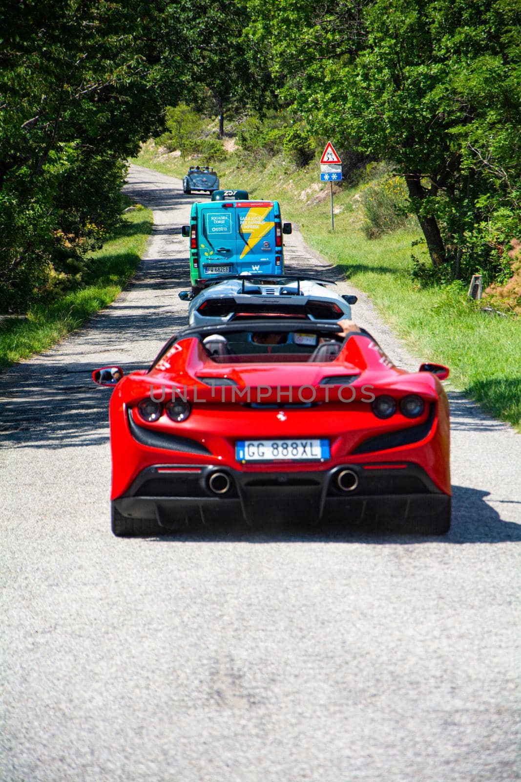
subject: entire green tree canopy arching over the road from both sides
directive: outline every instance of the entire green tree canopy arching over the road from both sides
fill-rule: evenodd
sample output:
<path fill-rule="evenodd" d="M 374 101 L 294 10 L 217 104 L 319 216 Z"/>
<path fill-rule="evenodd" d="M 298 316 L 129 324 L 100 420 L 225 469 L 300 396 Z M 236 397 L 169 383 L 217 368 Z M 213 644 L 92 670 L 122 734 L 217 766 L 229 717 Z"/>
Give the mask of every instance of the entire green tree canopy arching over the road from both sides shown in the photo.
<path fill-rule="evenodd" d="M 294 117 L 265 141 L 299 164 L 308 131 L 391 162 L 440 277 L 501 282 L 521 235 L 519 40 L 519 0 L 4 4 L 0 308 L 81 284 L 119 219 L 123 161 L 166 120 L 190 135 L 166 117 L 180 100 L 185 118 L 210 101 L 221 134 L 225 113 L 279 101 Z"/>

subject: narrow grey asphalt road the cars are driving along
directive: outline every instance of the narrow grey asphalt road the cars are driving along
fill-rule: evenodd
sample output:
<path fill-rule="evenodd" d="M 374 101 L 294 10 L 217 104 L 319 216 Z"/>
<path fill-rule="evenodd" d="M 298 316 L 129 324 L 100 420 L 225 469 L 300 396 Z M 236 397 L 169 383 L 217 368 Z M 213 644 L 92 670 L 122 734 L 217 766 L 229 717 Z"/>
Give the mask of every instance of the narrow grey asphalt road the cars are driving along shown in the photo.
<path fill-rule="evenodd" d="M 0 376 L 0 778 L 519 780 L 521 438 L 461 394 L 441 539 L 269 519 L 112 536 L 110 389 L 90 373 L 146 365 L 186 322 L 192 200 L 139 167 L 127 192 L 155 216 L 130 288 Z M 287 261 L 335 278 L 298 233 Z M 418 364 L 365 296 L 355 317 Z"/>

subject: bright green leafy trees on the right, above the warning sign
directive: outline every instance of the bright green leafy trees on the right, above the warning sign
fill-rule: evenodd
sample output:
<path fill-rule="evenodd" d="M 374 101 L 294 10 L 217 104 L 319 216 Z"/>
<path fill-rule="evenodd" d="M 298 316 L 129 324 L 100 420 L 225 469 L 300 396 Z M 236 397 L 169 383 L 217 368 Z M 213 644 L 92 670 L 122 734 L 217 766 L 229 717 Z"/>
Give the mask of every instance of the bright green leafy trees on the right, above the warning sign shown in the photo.
<path fill-rule="evenodd" d="M 404 176 L 433 263 L 498 271 L 484 225 L 503 221 L 501 243 L 516 223 L 519 0 L 248 5 L 284 96 L 316 132 Z"/>

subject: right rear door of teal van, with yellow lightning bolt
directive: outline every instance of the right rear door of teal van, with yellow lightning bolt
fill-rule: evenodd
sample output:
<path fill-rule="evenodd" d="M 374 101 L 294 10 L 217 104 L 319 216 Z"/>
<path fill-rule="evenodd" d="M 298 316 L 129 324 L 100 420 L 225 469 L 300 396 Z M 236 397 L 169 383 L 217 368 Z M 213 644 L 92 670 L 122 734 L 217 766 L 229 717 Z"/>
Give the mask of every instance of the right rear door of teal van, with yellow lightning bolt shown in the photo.
<path fill-rule="evenodd" d="M 276 247 L 275 226 L 280 226 L 273 201 L 241 201 L 237 213 L 238 273 L 282 273 L 282 242 Z M 277 258 L 276 258 L 277 256 Z M 278 264 L 277 264 L 278 259 Z"/>

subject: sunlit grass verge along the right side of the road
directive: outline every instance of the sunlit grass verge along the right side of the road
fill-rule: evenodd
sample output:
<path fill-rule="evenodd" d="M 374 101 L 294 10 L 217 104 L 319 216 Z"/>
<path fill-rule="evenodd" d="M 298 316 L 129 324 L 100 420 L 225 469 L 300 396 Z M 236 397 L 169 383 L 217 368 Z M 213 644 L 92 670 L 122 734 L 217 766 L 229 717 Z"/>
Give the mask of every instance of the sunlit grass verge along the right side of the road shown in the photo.
<path fill-rule="evenodd" d="M 201 161 L 158 156 L 147 145 L 134 162 L 182 177 L 190 163 Z M 246 188 L 258 198 L 277 197 L 283 219 L 298 223 L 309 245 L 371 296 L 417 355 L 447 364 L 457 388 L 521 431 L 521 320 L 484 314 L 467 299 L 464 285 L 463 290 L 420 288 L 410 274 L 411 242 L 419 239 L 419 229 L 366 239 L 360 230 L 360 188 L 344 186 L 334 195 L 337 214 L 332 232 L 329 185 L 317 181 L 318 161 L 301 170 L 280 159 L 244 166 L 232 154 L 215 168 L 223 188 Z"/>

